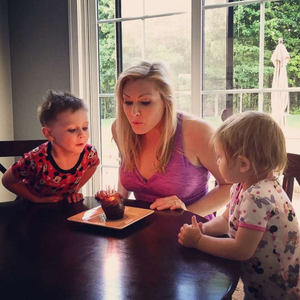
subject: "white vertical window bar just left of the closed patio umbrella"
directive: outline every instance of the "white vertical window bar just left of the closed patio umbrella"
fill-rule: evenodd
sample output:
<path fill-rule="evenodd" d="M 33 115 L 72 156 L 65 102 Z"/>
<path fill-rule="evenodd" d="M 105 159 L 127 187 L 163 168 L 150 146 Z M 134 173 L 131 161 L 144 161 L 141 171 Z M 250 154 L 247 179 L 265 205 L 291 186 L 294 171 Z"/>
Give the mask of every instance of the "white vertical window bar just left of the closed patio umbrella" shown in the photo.
<path fill-rule="evenodd" d="M 260 25 L 259 25 L 259 79 L 258 79 L 258 111 L 263 111 L 263 70 L 265 52 L 265 2 L 260 2 Z"/>

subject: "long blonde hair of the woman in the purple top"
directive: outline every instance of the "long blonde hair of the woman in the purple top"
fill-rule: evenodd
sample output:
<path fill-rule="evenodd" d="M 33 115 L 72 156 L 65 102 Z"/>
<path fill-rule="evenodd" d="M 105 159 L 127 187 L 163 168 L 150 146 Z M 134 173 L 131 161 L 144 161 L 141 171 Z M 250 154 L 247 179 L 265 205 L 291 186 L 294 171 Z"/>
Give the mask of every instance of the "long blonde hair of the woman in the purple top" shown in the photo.
<path fill-rule="evenodd" d="M 139 165 L 141 144 L 140 136 L 135 134 L 123 109 L 123 88 L 129 80 L 151 80 L 159 90 L 164 103 L 165 111 L 162 119 L 163 130 L 156 151 L 158 160 L 157 169 L 165 172 L 165 167 L 171 157 L 174 145 L 174 134 L 177 126 L 177 117 L 174 107 L 173 89 L 169 79 L 168 69 L 162 62 L 140 61 L 125 71 L 118 78 L 115 90 L 117 104 L 116 134 L 118 147 L 125 170 L 132 171 Z"/>

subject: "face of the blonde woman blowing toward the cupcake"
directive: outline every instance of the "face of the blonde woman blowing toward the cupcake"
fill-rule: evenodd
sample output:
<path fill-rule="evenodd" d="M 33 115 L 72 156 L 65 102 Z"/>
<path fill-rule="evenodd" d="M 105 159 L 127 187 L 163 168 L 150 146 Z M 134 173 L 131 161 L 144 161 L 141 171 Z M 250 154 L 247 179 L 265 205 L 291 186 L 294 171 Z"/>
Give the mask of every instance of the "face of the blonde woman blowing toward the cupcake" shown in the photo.
<path fill-rule="evenodd" d="M 136 134 L 145 134 L 161 125 L 165 105 L 152 80 L 128 80 L 123 87 L 123 109 Z"/>

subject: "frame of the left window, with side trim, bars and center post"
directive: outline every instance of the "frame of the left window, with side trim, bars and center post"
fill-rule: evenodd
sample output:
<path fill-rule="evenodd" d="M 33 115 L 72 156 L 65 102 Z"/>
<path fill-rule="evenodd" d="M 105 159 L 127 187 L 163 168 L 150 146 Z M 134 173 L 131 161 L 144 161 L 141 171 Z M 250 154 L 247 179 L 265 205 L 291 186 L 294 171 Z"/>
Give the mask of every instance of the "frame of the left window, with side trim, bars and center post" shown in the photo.
<path fill-rule="evenodd" d="M 192 5 L 197 10 L 193 10 L 194 24 L 201 24 L 201 5 L 198 0 L 191 0 Z M 116 26 L 116 50 L 117 50 L 117 74 L 122 72 L 122 39 L 120 39 L 122 27 L 122 21 L 130 20 L 145 20 L 147 18 L 163 17 L 170 15 L 184 14 L 185 12 L 172 12 L 163 13 L 157 15 L 142 15 L 132 18 L 122 18 L 120 16 L 121 0 L 115 0 L 115 13 L 119 18 L 109 20 L 97 20 L 97 1 L 96 0 L 68 0 L 69 11 L 69 42 L 70 42 L 70 91 L 75 95 L 83 98 L 89 108 L 89 122 L 90 122 L 90 139 L 89 142 L 93 144 L 101 155 L 101 119 L 100 119 L 100 107 L 99 99 L 101 97 L 113 97 L 114 93 L 99 93 L 99 73 L 98 73 L 98 24 L 115 22 L 120 24 Z M 198 30 L 192 34 L 192 87 L 191 87 L 191 107 L 192 111 L 197 110 L 197 115 L 201 116 L 202 104 L 199 101 L 199 95 L 201 93 L 201 87 L 199 81 L 201 81 L 201 30 L 199 26 Z M 144 26 L 143 26 L 144 28 Z M 142 58 L 145 57 L 145 30 L 142 34 Z M 194 40 L 194 42 L 193 42 Z M 196 54 L 193 57 L 193 52 Z M 195 63 L 193 63 L 193 60 Z M 194 87 L 194 88 L 193 88 Z M 193 92 L 194 91 L 194 92 Z M 178 92 L 186 94 L 186 91 Z M 199 105 L 200 104 L 200 105 Z M 95 191 L 101 189 L 101 173 L 102 168 L 119 168 L 114 165 L 103 165 L 100 163 L 100 168 L 97 168 L 93 178 L 83 187 L 83 194 L 92 195 Z"/>

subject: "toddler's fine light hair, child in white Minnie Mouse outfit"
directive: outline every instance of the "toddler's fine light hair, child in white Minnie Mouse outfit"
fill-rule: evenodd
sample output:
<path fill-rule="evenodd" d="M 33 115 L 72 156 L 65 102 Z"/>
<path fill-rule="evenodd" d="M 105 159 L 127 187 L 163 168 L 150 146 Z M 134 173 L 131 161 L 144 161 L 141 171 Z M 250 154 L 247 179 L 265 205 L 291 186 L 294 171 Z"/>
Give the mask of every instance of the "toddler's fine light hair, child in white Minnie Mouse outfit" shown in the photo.
<path fill-rule="evenodd" d="M 285 168 L 285 137 L 266 113 L 247 111 L 229 117 L 215 132 L 215 139 L 223 145 L 228 164 L 239 155 L 245 156 L 256 178 Z"/>

